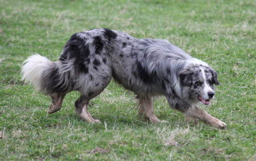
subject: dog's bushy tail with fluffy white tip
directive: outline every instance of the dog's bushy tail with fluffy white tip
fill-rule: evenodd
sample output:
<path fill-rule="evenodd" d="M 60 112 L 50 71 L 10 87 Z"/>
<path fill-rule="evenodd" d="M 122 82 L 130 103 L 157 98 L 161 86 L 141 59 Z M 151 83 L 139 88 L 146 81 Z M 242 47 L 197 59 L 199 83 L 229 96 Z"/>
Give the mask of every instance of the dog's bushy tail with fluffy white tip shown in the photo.
<path fill-rule="evenodd" d="M 65 92 L 68 84 L 64 74 L 59 71 L 59 62 L 52 62 L 39 54 L 31 55 L 21 67 L 22 79 L 25 83 L 33 84 L 37 91 L 46 95 Z"/>

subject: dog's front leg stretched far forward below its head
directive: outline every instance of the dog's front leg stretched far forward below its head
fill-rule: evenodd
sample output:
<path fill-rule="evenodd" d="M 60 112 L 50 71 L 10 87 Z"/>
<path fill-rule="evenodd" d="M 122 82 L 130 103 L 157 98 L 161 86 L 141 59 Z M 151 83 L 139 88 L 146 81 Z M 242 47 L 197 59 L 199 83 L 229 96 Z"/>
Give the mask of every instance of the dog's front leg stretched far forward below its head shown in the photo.
<path fill-rule="evenodd" d="M 184 111 L 186 115 L 196 117 L 199 120 L 203 121 L 206 124 L 209 124 L 213 126 L 214 128 L 225 128 L 226 123 L 220 121 L 218 118 L 215 118 L 208 114 L 206 111 L 204 111 L 202 108 L 195 107 L 191 108 L 189 107 L 186 111 Z"/>

